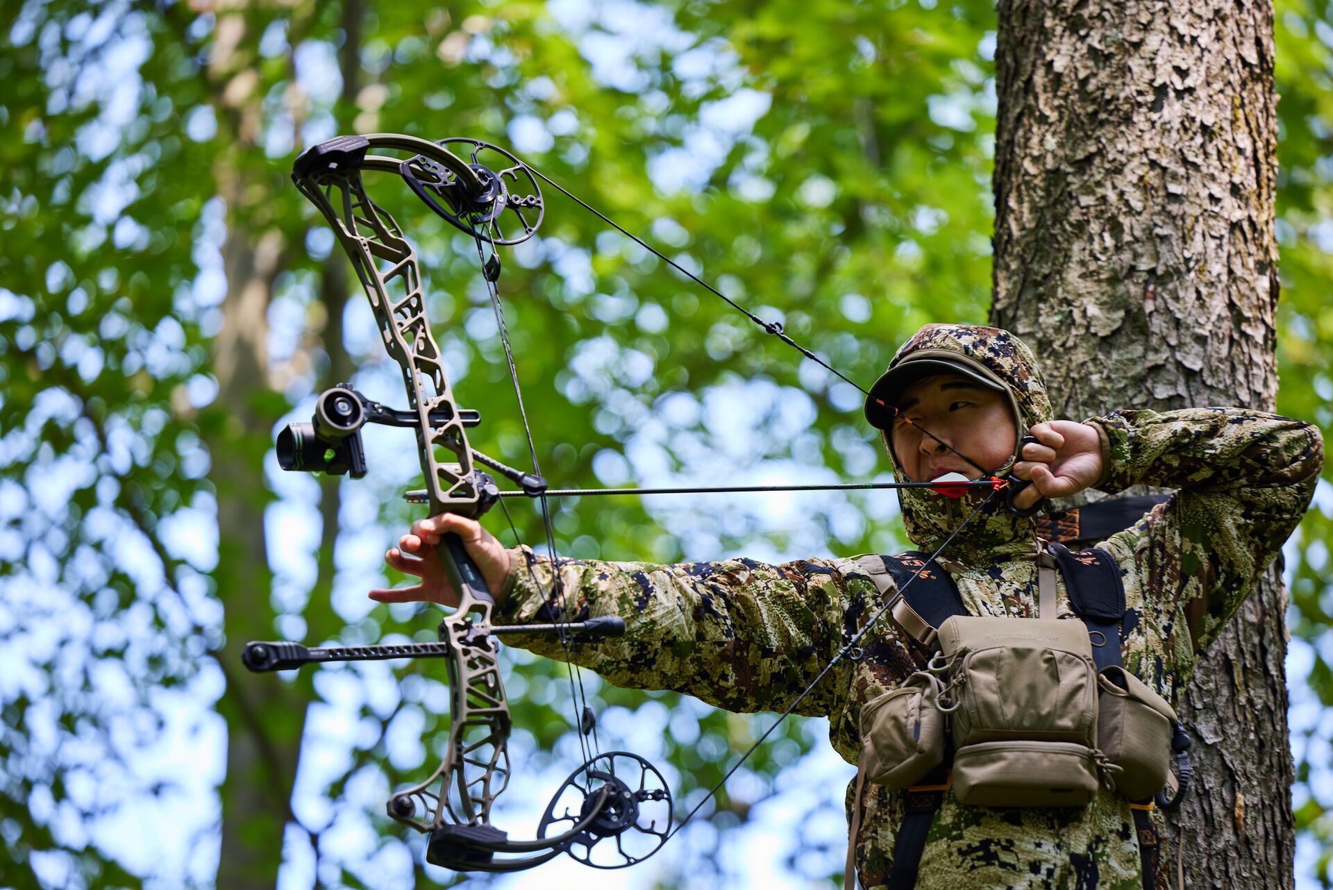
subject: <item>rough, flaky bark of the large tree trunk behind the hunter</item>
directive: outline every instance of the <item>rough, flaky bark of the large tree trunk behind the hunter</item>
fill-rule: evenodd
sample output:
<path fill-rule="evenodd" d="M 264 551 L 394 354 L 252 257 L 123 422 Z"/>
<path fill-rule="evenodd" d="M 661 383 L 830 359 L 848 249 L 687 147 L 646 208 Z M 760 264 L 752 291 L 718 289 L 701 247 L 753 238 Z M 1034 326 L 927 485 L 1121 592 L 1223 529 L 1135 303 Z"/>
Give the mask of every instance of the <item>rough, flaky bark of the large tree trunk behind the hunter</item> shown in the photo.
<path fill-rule="evenodd" d="M 1273 11 L 1249 0 L 1000 4 L 994 306 L 1057 416 L 1277 393 Z M 1290 887 L 1278 566 L 1181 702 L 1194 790 L 1158 882 Z"/>

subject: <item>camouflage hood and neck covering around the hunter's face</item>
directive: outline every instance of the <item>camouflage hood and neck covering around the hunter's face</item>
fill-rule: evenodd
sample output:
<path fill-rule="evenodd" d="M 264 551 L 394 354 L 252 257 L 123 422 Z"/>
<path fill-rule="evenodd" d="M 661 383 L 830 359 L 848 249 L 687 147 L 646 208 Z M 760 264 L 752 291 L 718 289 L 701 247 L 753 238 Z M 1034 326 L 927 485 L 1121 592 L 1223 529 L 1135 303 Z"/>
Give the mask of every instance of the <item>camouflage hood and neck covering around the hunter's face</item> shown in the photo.
<path fill-rule="evenodd" d="M 958 362 L 1002 384 L 1017 413 L 1017 429 L 1022 433 L 1033 424 L 1050 420 L 1050 400 L 1032 350 L 1008 330 L 976 325 L 926 325 L 902 344 L 889 368 L 921 358 Z M 889 432 L 884 430 L 884 446 L 893 461 L 893 474 L 906 481 L 906 473 L 889 448 L 888 437 Z M 1017 460 L 1020 437 L 1021 433 L 1016 436 L 1014 456 L 1004 466 L 994 468 L 997 476 L 1005 476 Z M 986 494 L 984 489 L 974 489 L 965 497 L 949 498 L 929 489 L 900 489 L 898 502 L 908 538 L 917 548 L 933 552 Z M 1032 546 L 1034 525 L 1034 520 L 1010 513 L 1005 506 L 1004 493 L 1000 493 L 953 540 L 945 554 L 966 564 L 989 562 L 1004 553 Z"/>

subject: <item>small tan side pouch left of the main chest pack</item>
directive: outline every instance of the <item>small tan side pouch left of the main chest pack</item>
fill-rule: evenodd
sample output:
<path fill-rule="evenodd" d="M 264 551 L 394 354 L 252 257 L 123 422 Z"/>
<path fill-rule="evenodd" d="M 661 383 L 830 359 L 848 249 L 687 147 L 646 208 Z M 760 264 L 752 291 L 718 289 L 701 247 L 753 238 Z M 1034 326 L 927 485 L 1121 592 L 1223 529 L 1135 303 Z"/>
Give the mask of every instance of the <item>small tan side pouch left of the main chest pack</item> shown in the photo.
<path fill-rule="evenodd" d="M 865 777 L 898 790 L 944 761 L 944 715 L 936 709 L 940 681 L 918 671 L 861 709 Z"/>

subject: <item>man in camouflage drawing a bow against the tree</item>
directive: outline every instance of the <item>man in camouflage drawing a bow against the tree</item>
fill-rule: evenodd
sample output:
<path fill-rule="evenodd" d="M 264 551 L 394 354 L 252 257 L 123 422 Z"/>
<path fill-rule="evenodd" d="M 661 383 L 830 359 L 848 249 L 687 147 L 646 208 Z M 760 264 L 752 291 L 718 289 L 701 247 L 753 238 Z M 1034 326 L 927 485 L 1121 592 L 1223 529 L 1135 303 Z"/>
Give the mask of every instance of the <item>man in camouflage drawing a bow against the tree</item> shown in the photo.
<path fill-rule="evenodd" d="M 1101 558 L 1113 569 L 1102 581 L 1114 588 L 1118 618 L 1113 614 L 1117 620 L 1102 626 L 1120 637 L 1118 650 L 1114 640 L 1101 636 L 1098 642 L 1098 632 L 1078 630 L 1082 645 L 1090 638 L 1092 646 L 1101 648 L 1098 666 L 1110 658 L 1129 675 L 1118 686 L 1129 693 L 1114 693 L 1096 677 L 1092 689 L 1101 682 L 1101 689 L 1132 697 L 1133 689 L 1146 687 L 1150 691 L 1141 698 L 1162 702 L 1154 706 L 1168 717 L 1165 702 L 1177 701 L 1198 653 L 1217 638 L 1309 506 L 1324 460 L 1314 426 L 1236 408 L 1117 410 L 1084 422 L 1054 420 L 1029 349 L 1005 330 L 968 325 L 928 325 L 904 344 L 872 388 L 866 418 L 882 430 L 898 480 L 945 474 L 976 480 L 986 477 L 981 468 L 994 468 L 989 473 L 997 477 L 1013 473 L 1030 480 L 1014 497 L 1016 508 L 1084 489 L 1108 496 L 1134 485 L 1172 489 L 1169 500 L 1101 541 L 1100 550 L 1082 552 L 1101 554 L 1092 561 Z M 932 554 L 986 490 L 946 497 L 916 488 L 900 489 L 898 497 L 908 538 Z M 1018 516 L 1004 498 L 992 498 L 938 554 L 934 565 L 944 572 L 933 588 L 921 585 L 922 590 L 956 600 L 953 614 L 1038 618 L 1041 613 L 1041 618 L 1089 622 L 1088 609 L 1078 606 L 1082 600 L 1070 596 L 1073 576 L 1062 569 L 1052 573 L 1053 581 L 1041 580 L 1041 566 L 1049 570 L 1050 561 L 1041 562 L 1046 549 L 1037 528 L 1036 518 Z M 476 521 L 453 514 L 416 522 L 400 549 L 388 552 L 392 568 L 421 582 L 373 590 L 371 598 L 451 605 L 455 594 L 437 562 L 424 558 L 445 532 L 461 536 L 496 592 L 497 622 L 549 620 L 545 592 L 552 589 L 557 566 L 527 548 L 505 549 Z M 559 572 L 575 617 L 620 616 L 628 625 L 624 637 L 581 646 L 580 665 L 620 686 L 672 689 L 732 711 L 781 711 L 893 594 L 904 577 L 902 565 L 921 568 L 920 558 L 885 557 L 882 565 L 900 570 L 876 572 L 881 565 L 876 560 L 834 557 L 782 565 L 745 558 L 680 565 L 559 560 Z M 1046 590 L 1053 590 L 1053 614 L 1038 608 Z M 1148 847 L 1156 843 L 1154 821 L 1161 815 L 1150 799 L 1136 803 L 1122 793 L 1128 773 L 1109 765 L 1102 751 L 1090 750 L 1092 742 L 1077 753 L 1100 779 L 1077 806 L 964 803 L 957 778 L 950 785 L 950 773 L 940 767 L 932 775 L 942 781 L 922 785 L 917 779 L 912 786 L 926 790 L 921 794 L 888 787 L 873 777 L 864 781 L 864 706 L 909 681 L 936 694 L 930 677 L 940 671 L 925 670 L 934 664 L 925 644 L 938 641 L 929 629 L 924 641 L 920 630 L 885 616 L 861 642 L 862 656 L 840 661 L 796 711 L 828 717 L 837 753 L 861 763 L 862 782 L 853 781 L 846 795 L 848 858 L 861 886 L 1156 886 L 1152 873 L 1165 873 L 1168 865 Z M 561 657 L 551 638 L 515 642 Z M 1058 652 L 1042 656 L 1048 662 L 1060 657 Z M 1086 661 L 1074 656 L 1074 664 L 1082 664 L 1078 660 Z M 950 722 L 954 738 L 948 755 L 961 761 L 965 749 L 953 751 L 962 742 L 956 738 L 958 717 Z M 974 787 L 970 793 L 973 799 L 989 799 Z M 929 803 L 925 809 L 922 799 Z M 993 799 L 1008 802 L 1002 795 Z"/>

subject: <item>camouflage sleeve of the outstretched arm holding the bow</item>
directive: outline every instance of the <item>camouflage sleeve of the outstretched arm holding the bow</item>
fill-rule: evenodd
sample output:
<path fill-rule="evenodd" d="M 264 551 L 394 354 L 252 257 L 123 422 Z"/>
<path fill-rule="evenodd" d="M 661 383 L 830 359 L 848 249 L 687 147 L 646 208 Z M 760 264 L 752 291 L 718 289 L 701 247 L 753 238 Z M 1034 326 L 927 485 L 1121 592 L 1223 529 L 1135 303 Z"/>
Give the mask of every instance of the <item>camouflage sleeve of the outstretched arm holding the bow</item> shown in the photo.
<path fill-rule="evenodd" d="M 552 564 L 528 548 L 509 552 L 515 570 L 496 620 L 552 620 Z M 656 565 L 560 560 L 568 616 L 620 616 L 624 637 L 584 644 L 575 661 L 617 686 L 672 689 L 732 711 L 782 710 L 837 653 L 848 590 L 832 561 L 765 565 L 752 560 Z M 866 585 L 873 594 L 873 585 Z M 507 637 L 564 658 L 549 637 Z M 841 665 L 840 665 L 841 666 Z M 833 670 L 797 707 L 829 713 L 848 677 Z"/>

